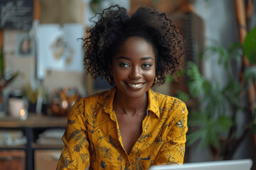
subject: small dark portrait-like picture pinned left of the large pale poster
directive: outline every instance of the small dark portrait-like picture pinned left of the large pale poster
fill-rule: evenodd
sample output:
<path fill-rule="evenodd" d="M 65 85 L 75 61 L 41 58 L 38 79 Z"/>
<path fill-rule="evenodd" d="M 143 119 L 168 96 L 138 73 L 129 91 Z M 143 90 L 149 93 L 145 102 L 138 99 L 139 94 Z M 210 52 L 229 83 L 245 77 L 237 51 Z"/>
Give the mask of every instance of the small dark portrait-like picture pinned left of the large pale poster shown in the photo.
<path fill-rule="evenodd" d="M 18 34 L 16 43 L 16 56 L 30 57 L 35 54 L 34 52 L 35 43 L 33 38 L 26 33 Z"/>

